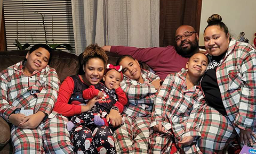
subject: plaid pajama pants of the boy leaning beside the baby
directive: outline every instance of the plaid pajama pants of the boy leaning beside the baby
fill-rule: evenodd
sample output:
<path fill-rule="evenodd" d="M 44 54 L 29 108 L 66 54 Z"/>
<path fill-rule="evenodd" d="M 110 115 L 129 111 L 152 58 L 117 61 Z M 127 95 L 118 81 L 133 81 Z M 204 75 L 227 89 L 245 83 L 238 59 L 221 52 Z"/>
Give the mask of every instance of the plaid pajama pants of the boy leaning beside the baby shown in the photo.
<path fill-rule="evenodd" d="M 148 153 L 150 117 L 125 115 L 124 119 L 113 134 L 117 153 Z"/>

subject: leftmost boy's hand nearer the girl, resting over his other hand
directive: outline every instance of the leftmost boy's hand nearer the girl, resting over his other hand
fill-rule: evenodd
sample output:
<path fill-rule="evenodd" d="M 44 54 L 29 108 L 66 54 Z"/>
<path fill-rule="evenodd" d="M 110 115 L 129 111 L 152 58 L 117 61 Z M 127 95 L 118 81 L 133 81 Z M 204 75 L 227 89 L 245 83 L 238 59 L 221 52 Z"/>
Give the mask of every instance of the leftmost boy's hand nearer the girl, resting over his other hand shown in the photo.
<path fill-rule="evenodd" d="M 22 129 L 35 129 L 42 122 L 44 117 L 45 113 L 38 111 L 37 113 L 24 118 L 19 126 Z"/>

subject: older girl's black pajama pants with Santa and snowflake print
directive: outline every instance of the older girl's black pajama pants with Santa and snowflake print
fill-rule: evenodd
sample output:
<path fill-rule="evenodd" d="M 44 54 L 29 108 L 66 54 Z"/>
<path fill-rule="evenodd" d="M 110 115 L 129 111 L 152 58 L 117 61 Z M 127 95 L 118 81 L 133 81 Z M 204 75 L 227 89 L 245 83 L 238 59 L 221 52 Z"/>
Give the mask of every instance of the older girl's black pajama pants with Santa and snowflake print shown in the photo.
<path fill-rule="evenodd" d="M 79 125 L 70 131 L 75 152 L 116 153 L 113 132 L 108 126 L 98 126 L 91 130 L 86 126 Z"/>

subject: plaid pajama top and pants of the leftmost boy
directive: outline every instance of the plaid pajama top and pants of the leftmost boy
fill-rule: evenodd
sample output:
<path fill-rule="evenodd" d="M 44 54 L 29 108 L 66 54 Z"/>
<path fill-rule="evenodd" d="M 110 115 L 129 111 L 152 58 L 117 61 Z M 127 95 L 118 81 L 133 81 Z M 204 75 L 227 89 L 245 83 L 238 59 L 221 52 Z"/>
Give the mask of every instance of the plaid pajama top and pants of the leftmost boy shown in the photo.
<path fill-rule="evenodd" d="M 47 116 L 36 129 L 11 126 L 15 153 L 74 153 L 65 123 L 67 118 L 52 112 L 60 81 L 54 69 L 46 66 L 33 75 L 23 74 L 23 62 L 0 73 L 0 113 L 9 122 L 9 116 L 21 109 L 41 111 Z"/>

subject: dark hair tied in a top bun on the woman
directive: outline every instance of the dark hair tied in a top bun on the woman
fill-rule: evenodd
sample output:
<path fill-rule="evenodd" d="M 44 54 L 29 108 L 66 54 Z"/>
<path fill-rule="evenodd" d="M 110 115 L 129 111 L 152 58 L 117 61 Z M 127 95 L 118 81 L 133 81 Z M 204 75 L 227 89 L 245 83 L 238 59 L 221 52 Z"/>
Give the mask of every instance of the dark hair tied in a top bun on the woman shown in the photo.
<path fill-rule="evenodd" d="M 227 36 L 228 35 L 228 27 L 221 20 L 222 20 L 222 18 L 219 14 L 211 15 L 207 20 L 208 25 L 206 26 L 206 28 L 210 27 L 212 25 L 218 25 L 220 27 L 220 29 L 226 33 L 226 36 Z M 204 32 L 205 32 L 206 28 L 204 29 Z"/>

